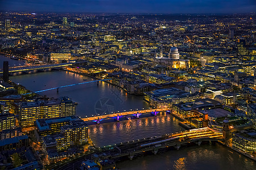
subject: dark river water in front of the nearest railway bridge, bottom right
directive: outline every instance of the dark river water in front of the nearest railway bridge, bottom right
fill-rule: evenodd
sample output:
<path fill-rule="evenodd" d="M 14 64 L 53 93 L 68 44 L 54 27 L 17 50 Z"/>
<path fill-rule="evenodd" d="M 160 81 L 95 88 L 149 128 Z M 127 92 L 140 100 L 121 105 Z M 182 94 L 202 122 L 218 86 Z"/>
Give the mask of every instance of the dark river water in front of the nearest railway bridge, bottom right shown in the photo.
<path fill-rule="evenodd" d="M 232 159 L 230 159 L 232 158 Z M 253 160 L 221 145 L 181 147 L 117 163 L 119 169 L 255 169 Z"/>

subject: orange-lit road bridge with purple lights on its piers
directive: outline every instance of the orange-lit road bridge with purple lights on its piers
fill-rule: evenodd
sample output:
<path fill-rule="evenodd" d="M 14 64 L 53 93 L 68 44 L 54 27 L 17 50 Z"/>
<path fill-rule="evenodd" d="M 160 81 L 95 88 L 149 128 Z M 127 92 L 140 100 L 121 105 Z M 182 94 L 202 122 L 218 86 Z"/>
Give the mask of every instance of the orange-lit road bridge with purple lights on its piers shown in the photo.
<path fill-rule="evenodd" d="M 109 80 L 109 79 L 107 79 Z M 84 121 L 94 121 L 97 124 L 100 124 L 102 120 L 106 119 L 115 119 L 119 121 L 119 118 L 125 117 L 130 119 L 131 117 L 139 118 L 142 114 L 151 113 L 152 115 L 156 116 L 159 112 L 167 112 L 170 111 L 170 108 L 158 108 L 158 109 L 143 109 L 140 111 L 127 111 L 127 112 L 120 112 L 120 113 L 113 113 L 113 114 L 104 114 L 104 115 L 95 115 L 92 117 L 81 118 Z"/>

